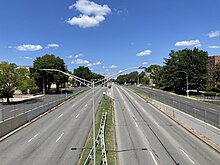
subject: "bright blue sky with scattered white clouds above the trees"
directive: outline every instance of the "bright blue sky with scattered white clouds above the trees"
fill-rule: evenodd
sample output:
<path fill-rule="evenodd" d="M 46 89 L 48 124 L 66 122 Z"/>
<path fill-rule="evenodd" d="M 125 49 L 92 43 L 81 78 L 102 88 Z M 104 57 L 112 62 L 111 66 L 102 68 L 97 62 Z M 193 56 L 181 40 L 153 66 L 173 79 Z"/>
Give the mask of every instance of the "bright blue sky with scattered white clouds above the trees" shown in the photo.
<path fill-rule="evenodd" d="M 170 50 L 220 55 L 219 0 L 0 0 L 0 61 L 54 54 L 68 69 L 163 65 Z"/>

